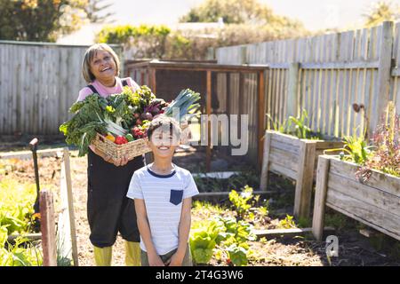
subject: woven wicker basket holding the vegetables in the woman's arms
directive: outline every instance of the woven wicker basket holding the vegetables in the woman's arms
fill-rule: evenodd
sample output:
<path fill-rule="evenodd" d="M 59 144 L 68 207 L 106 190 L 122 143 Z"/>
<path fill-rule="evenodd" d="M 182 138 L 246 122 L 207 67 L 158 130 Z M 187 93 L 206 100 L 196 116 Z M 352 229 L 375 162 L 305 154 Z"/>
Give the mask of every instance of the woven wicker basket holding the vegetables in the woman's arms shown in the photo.
<path fill-rule="evenodd" d="M 126 156 L 128 160 L 132 160 L 136 156 L 145 154 L 151 151 L 148 146 L 148 138 L 141 138 L 128 142 L 122 145 L 118 145 L 108 138 L 105 138 L 101 134 L 97 133 L 94 138 L 93 145 L 96 149 L 99 149 L 102 153 L 107 154 L 114 160 L 118 160 Z"/>

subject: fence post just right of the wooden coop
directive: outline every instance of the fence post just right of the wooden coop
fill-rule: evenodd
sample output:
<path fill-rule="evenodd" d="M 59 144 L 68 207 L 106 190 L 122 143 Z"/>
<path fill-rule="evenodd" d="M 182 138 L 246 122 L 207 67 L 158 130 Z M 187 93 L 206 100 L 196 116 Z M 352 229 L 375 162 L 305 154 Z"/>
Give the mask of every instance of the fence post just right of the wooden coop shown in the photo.
<path fill-rule="evenodd" d="M 299 99 L 297 96 L 297 94 L 299 93 L 299 68 L 299 62 L 292 62 L 289 66 L 289 78 L 286 99 L 287 117 L 289 117 L 290 115 L 296 117 L 299 108 Z"/>

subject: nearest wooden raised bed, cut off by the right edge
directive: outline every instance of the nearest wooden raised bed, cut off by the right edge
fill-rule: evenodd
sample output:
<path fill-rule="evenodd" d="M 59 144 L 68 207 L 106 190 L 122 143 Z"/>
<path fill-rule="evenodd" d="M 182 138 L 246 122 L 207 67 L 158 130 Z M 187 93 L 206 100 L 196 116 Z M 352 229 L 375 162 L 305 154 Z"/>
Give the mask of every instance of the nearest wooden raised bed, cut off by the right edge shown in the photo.
<path fill-rule="evenodd" d="M 316 176 L 313 234 L 322 241 L 325 205 L 400 241 L 400 178 L 372 170 L 364 183 L 359 166 L 321 155 Z"/>

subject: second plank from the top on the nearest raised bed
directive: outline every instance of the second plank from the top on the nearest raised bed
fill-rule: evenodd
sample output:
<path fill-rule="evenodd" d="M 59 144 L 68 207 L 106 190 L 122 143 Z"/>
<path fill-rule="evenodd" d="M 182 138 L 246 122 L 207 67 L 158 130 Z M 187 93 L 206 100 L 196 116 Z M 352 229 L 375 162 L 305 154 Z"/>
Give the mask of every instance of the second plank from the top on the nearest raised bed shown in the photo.
<path fill-rule="evenodd" d="M 328 187 L 347 194 L 359 201 L 387 210 L 400 217 L 400 197 L 380 191 L 368 185 L 363 185 L 346 177 L 340 177 L 329 173 Z"/>

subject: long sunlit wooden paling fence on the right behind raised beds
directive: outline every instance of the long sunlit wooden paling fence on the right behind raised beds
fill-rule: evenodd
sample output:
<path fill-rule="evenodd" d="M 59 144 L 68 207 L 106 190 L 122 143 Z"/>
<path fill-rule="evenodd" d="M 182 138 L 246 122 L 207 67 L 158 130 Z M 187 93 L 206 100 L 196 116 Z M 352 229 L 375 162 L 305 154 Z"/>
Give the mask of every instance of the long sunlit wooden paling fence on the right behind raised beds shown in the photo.
<path fill-rule="evenodd" d="M 264 113 L 279 122 L 305 108 L 313 130 L 343 137 L 364 128 L 372 131 L 389 100 L 395 101 L 400 112 L 400 22 L 324 36 L 223 47 L 216 56 L 220 64 L 269 66 Z M 245 76 L 244 101 L 257 104 L 253 100 L 256 77 Z M 225 83 L 219 85 L 224 89 Z M 242 101 L 238 88 L 237 83 L 230 87 L 236 102 Z M 367 119 L 363 110 L 353 110 L 354 103 L 364 105 Z M 254 153 L 259 141 L 249 144 Z"/>

